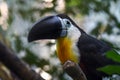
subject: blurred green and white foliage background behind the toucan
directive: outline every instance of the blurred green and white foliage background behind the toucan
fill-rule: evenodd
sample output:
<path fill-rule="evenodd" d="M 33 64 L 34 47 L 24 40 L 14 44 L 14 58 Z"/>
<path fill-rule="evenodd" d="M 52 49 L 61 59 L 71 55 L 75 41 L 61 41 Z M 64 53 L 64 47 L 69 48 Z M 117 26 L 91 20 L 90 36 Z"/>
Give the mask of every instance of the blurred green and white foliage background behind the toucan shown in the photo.
<path fill-rule="evenodd" d="M 28 43 L 32 24 L 65 13 L 88 34 L 120 52 L 119 4 L 120 0 L 0 0 L 0 41 L 47 80 L 70 80 L 56 56 L 54 40 Z"/>

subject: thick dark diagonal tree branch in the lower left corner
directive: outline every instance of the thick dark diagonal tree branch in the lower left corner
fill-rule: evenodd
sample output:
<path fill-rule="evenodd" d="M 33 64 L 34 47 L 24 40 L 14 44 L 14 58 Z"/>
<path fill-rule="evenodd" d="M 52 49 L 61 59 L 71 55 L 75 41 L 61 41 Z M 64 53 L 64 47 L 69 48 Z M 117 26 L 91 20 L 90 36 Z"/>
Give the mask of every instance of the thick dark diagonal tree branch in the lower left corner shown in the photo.
<path fill-rule="evenodd" d="M 0 61 L 22 80 L 44 80 L 1 42 Z"/>

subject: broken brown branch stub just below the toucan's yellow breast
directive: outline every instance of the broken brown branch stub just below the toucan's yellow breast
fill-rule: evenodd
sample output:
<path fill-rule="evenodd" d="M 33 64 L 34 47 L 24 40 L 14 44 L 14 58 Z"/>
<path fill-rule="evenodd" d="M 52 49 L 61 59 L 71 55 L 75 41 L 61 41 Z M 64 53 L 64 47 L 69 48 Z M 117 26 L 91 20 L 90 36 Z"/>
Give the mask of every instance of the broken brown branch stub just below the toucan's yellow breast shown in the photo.
<path fill-rule="evenodd" d="M 63 69 L 70 77 L 73 78 L 73 80 L 87 80 L 79 65 L 72 61 L 66 61 L 63 65 Z"/>

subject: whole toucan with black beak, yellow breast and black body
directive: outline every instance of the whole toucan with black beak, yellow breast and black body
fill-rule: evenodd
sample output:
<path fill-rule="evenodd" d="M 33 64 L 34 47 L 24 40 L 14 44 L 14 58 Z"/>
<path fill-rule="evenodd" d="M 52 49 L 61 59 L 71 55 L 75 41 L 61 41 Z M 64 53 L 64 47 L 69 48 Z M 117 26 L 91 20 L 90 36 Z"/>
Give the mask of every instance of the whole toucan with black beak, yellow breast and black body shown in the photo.
<path fill-rule="evenodd" d="M 47 16 L 33 25 L 28 41 L 43 39 L 55 39 L 61 63 L 71 60 L 79 64 L 88 80 L 102 80 L 107 74 L 97 68 L 116 64 L 105 56 L 111 47 L 88 35 L 66 14 Z"/>

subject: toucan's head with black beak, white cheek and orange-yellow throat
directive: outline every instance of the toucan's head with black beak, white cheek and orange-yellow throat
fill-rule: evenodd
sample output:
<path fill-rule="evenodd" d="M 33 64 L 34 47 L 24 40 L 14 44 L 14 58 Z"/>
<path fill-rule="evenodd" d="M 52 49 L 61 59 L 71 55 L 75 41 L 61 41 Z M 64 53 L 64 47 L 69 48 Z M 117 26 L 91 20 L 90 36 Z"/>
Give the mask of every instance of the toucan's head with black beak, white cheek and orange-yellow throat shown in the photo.
<path fill-rule="evenodd" d="M 28 41 L 56 39 L 57 54 L 62 63 L 67 60 L 79 62 L 77 42 L 84 31 L 64 14 L 48 16 L 35 23 L 29 32 Z"/>

